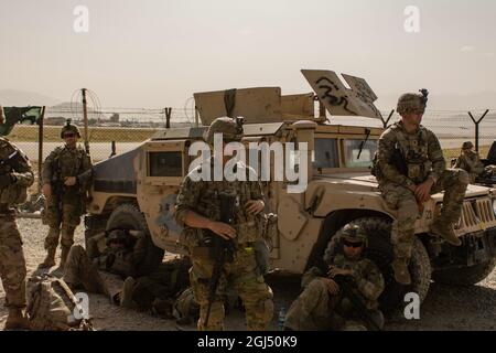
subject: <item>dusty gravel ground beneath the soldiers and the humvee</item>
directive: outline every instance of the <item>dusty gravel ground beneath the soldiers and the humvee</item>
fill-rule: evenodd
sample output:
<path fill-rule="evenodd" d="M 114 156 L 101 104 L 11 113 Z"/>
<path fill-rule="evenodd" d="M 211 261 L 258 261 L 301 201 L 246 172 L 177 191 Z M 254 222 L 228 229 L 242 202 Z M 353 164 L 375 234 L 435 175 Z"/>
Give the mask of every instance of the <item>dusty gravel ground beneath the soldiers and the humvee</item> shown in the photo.
<path fill-rule="evenodd" d="M 24 242 L 28 271 L 31 275 L 44 258 L 43 239 L 47 227 L 40 220 L 18 220 Z M 83 244 L 83 231 L 78 227 L 76 243 Z M 281 306 L 288 308 L 299 293 L 299 279 L 271 276 L 268 278 L 274 291 L 276 314 L 272 330 L 277 330 L 277 313 Z M 4 292 L 0 286 L 0 328 L 7 310 L 3 308 Z M 97 330 L 176 330 L 171 320 L 151 317 L 112 306 L 104 296 L 90 295 L 90 314 Z M 190 328 L 194 330 L 194 327 Z M 239 311 L 229 313 L 227 330 L 244 330 Z M 386 330 L 496 330 L 496 271 L 477 286 L 455 288 L 432 284 L 421 308 L 420 320 L 389 319 Z"/>

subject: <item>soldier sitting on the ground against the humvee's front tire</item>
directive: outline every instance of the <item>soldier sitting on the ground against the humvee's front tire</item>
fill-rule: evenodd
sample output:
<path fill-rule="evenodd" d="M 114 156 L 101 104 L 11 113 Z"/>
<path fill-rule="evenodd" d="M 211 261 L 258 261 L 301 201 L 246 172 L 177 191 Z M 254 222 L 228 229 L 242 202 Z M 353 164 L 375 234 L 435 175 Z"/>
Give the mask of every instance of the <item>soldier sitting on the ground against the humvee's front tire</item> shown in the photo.
<path fill-rule="evenodd" d="M 348 298 L 333 279 L 349 276 L 352 290 L 368 310 L 369 317 L 382 329 L 384 317 L 377 299 L 385 284 L 379 268 L 364 257 L 367 235 L 357 225 L 346 225 L 330 244 L 324 263 L 309 269 L 302 278 L 303 292 L 288 310 L 284 330 L 367 330 Z"/>

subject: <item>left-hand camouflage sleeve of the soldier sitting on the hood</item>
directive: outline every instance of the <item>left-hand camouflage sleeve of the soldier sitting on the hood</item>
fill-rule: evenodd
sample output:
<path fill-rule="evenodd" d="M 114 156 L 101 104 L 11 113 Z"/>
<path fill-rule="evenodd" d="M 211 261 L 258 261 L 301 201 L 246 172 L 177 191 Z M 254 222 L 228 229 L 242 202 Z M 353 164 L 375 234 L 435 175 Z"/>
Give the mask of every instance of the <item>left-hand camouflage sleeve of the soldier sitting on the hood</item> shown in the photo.
<path fill-rule="evenodd" d="M 390 163 L 397 138 L 395 131 L 386 130 L 379 139 L 377 150 L 377 161 L 385 179 L 403 186 L 411 186 L 414 183 L 406 175 L 401 174 L 398 169 Z"/>

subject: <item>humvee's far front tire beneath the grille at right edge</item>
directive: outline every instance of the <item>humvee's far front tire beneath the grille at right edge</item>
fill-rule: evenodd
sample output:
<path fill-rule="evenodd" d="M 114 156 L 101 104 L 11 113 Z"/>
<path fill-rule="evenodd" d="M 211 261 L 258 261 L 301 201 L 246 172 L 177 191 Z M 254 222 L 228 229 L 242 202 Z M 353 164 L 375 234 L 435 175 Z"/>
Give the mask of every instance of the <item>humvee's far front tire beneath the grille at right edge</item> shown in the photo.
<path fill-rule="evenodd" d="M 432 278 L 434 281 L 444 285 L 472 286 L 489 276 L 495 267 L 496 258 L 492 258 L 488 261 L 471 267 L 434 270 Z"/>

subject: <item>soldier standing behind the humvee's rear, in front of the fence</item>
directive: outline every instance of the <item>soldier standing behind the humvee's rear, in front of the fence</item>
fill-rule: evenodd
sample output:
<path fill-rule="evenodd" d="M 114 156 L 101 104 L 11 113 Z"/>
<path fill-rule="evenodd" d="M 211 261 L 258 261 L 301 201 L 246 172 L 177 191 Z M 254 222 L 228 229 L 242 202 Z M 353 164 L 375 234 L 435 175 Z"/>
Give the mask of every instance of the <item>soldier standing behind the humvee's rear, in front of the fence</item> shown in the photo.
<path fill-rule="evenodd" d="M 46 258 L 40 267 L 55 265 L 55 252 L 61 239 L 61 268 L 64 267 L 74 231 L 86 212 L 86 192 L 91 181 L 91 160 L 84 148 L 77 145 L 79 129 L 67 121 L 61 131 L 64 147 L 57 147 L 43 164 L 43 194 L 46 210 L 43 223 L 50 226 L 45 238 Z"/>

